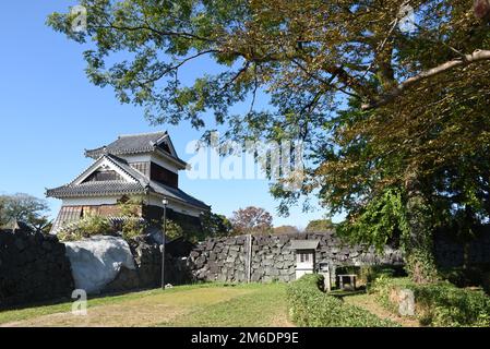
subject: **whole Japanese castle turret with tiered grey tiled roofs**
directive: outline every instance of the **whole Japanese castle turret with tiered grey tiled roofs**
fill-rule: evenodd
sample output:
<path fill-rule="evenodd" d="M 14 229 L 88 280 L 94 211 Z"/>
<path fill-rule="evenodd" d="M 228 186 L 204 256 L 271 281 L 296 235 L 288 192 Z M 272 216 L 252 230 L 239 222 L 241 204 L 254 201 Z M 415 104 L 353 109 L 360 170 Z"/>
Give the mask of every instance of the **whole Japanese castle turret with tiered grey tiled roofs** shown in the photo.
<path fill-rule="evenodd" d="M 179 188 L 181 160 L 167 132 L 121 135 L 115 142 L 85 151 L 94 163 L 71 183 L 47 190 L 46 195 L 62 200 L 51 232 L 87 215 L 119 217 L 118 203 L 141 198 L 141 218 L 152 221 L 163 216 L 184 225 L 201 227 L 201 215 L 211 207 Z"/>

